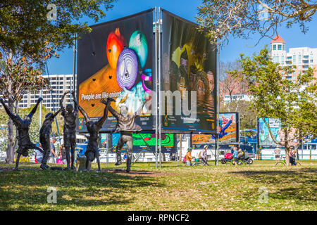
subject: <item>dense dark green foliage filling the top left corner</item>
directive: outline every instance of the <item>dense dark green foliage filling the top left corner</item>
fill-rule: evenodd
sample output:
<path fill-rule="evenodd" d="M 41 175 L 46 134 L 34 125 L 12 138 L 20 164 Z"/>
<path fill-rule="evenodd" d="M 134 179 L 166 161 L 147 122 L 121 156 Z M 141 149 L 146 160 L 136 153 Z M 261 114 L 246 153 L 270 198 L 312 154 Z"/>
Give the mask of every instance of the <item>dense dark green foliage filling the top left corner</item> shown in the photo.
<path fill-rule="evenodd" d="M 11 0 L 0 3 L 0 50 L 23 53 L 41 62 L 46 49 L 60 51 L 73 45 L 73 34 L 90 32 L 87 16 L 104 17 L 115 0 Z M 56 16 L 52 17 L 56 9 Z"/>

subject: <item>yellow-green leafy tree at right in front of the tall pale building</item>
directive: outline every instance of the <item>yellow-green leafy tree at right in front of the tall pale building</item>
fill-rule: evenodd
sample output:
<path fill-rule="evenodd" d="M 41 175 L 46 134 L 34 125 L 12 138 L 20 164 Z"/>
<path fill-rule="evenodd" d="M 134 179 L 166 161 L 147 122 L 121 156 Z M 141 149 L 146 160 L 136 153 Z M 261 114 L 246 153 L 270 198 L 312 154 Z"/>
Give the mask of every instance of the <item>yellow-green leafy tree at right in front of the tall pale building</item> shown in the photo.
<path fill-rule="evenodd" d="M 242 71 L 233 70 L 233 74 L 243 74 L 249 82 L 249 92 L 253 96 L 250 109 L 257 117 L 272 117 L 280 120 L 282 139 L 277 141 L 271 133 L 270 124 L 266 123 L 273 141 L 285 147 L 289 153 L 292 147 L 300 145 L 299 136 L 317 136 L 317 82 L 313 69 L 297 77 L 296 82 L 285 79 L 292 73 L 291 67 L 281 67 L 273 63 L 265 47 L 252 58 L 241 55 Z M 307 139 L 306 141 L 309 141 Z M 290 158 L 287 154 L 287 165 Z"/>

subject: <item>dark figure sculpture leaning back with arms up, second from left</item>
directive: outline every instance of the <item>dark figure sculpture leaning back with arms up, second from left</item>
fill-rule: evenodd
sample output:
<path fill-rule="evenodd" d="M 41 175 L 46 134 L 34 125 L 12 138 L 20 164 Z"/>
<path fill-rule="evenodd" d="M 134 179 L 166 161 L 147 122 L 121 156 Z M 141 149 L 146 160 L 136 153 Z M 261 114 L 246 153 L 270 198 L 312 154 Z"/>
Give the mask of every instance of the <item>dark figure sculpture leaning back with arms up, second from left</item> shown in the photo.
<path fill-rule="evenodd" d="M 41 143 L 44 150 L 42 164 L 39 166 L 41 169 L 49 169 L 49 166 L 46 163 L 47 159 L 49 158 L 49 153 L 51 152 L 51 123 L 54 121 L 56 115 L 58 115 L 60 112 L 61 109 L 59 109 L 56 113 L 47 113 L 45 115 L 45 120 L 41 129 L 39 129 L 39 142 Z"/>

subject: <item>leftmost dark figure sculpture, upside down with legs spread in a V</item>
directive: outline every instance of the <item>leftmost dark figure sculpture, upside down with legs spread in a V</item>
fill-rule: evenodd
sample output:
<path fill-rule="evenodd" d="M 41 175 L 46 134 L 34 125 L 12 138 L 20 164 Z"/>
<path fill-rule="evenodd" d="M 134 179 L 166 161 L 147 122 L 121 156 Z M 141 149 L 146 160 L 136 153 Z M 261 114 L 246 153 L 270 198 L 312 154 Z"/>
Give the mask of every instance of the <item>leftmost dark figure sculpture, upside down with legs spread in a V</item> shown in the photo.
<path fill-rule="evenodd" d="M 18 156 L 15 162 L 15 169 L 18 169 L 20 156 L 23 155 L 24 157 L 27 157 L 27 155 L 29 155 L 29 149 L 37 149 L 43 153 L 43 150 L 41 148 L 35 146 L 35 144 L 32 143 L 30 139 L 30 135 L 29 135 L 29 129 L 30 129 L 30 124 L 32 122 L 32 117 L 37 111 L 37 106 L 42 100 L 43 98 L 37 99 L 37 103 L 35 107 L 32 109 L 29 115 L 25 115 L 24 120 L 22 120 L 19 115 L 14 115 L 13 113 L 11 113 L 11 111 L 8 109 L 8 107 L 4 103 L 4 100 L 0 98 L 1 104 L 4 105 L 4 110 L 6 110 L 6 113 L 11 118 L 11 120 L 13 120 L 13 124 L 18 130 L 18 134 L 16 136 L 16 139 L 18 139 L 18 150 L 16 151 L 18 153 Z"/>

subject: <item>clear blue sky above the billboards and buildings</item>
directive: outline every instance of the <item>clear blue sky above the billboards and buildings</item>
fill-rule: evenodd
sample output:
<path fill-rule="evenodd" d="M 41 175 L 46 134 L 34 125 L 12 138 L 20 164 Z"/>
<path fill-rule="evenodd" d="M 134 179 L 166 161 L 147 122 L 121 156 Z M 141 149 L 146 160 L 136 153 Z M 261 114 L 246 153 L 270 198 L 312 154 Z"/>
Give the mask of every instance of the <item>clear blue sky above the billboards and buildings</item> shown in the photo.
<path fill-rule="evenodd" d="M 201 5 L 202 0 L 118 0 L 114 7 L 106 12 L 106 16 L 99 20 L 103 23 L 109 20 L 116 20 L 127 15 L 132 15 L 141 11 L 145 11 L 155 6 L 161 7 L 166 11 L 170 11 L 182 18 L 195 22 L 197 15 L 197 7 Z M 83 18 L 81 22 L 87 22 L 93 25 L 94 21 Z M 307 23 L 309 32 L 303 34 L 298 25 L 294 25 L 291 29 L 285 26 L 279 28 L 280 36 L 286 41 L 286 49 L 294 47 L 311 47 L 317 48 L 317 16 L 313 21 Z M 271 39 L 264 38 L 257 46 L 254 46 L 259 39 L 259 35 L 254 34 L 251 39 L 233 39 L 223 49 L 220 49 L 220 61 L 233 61 L 239 58 L 240 53 L 251 56 L 254 52 L 259 51 L 264 45 L 270 44 Z M 64 49 L 59 52 L 60 58 L 52 58 L 49 60 L 49 74 L 73 74 L 73 49 Z"/>

